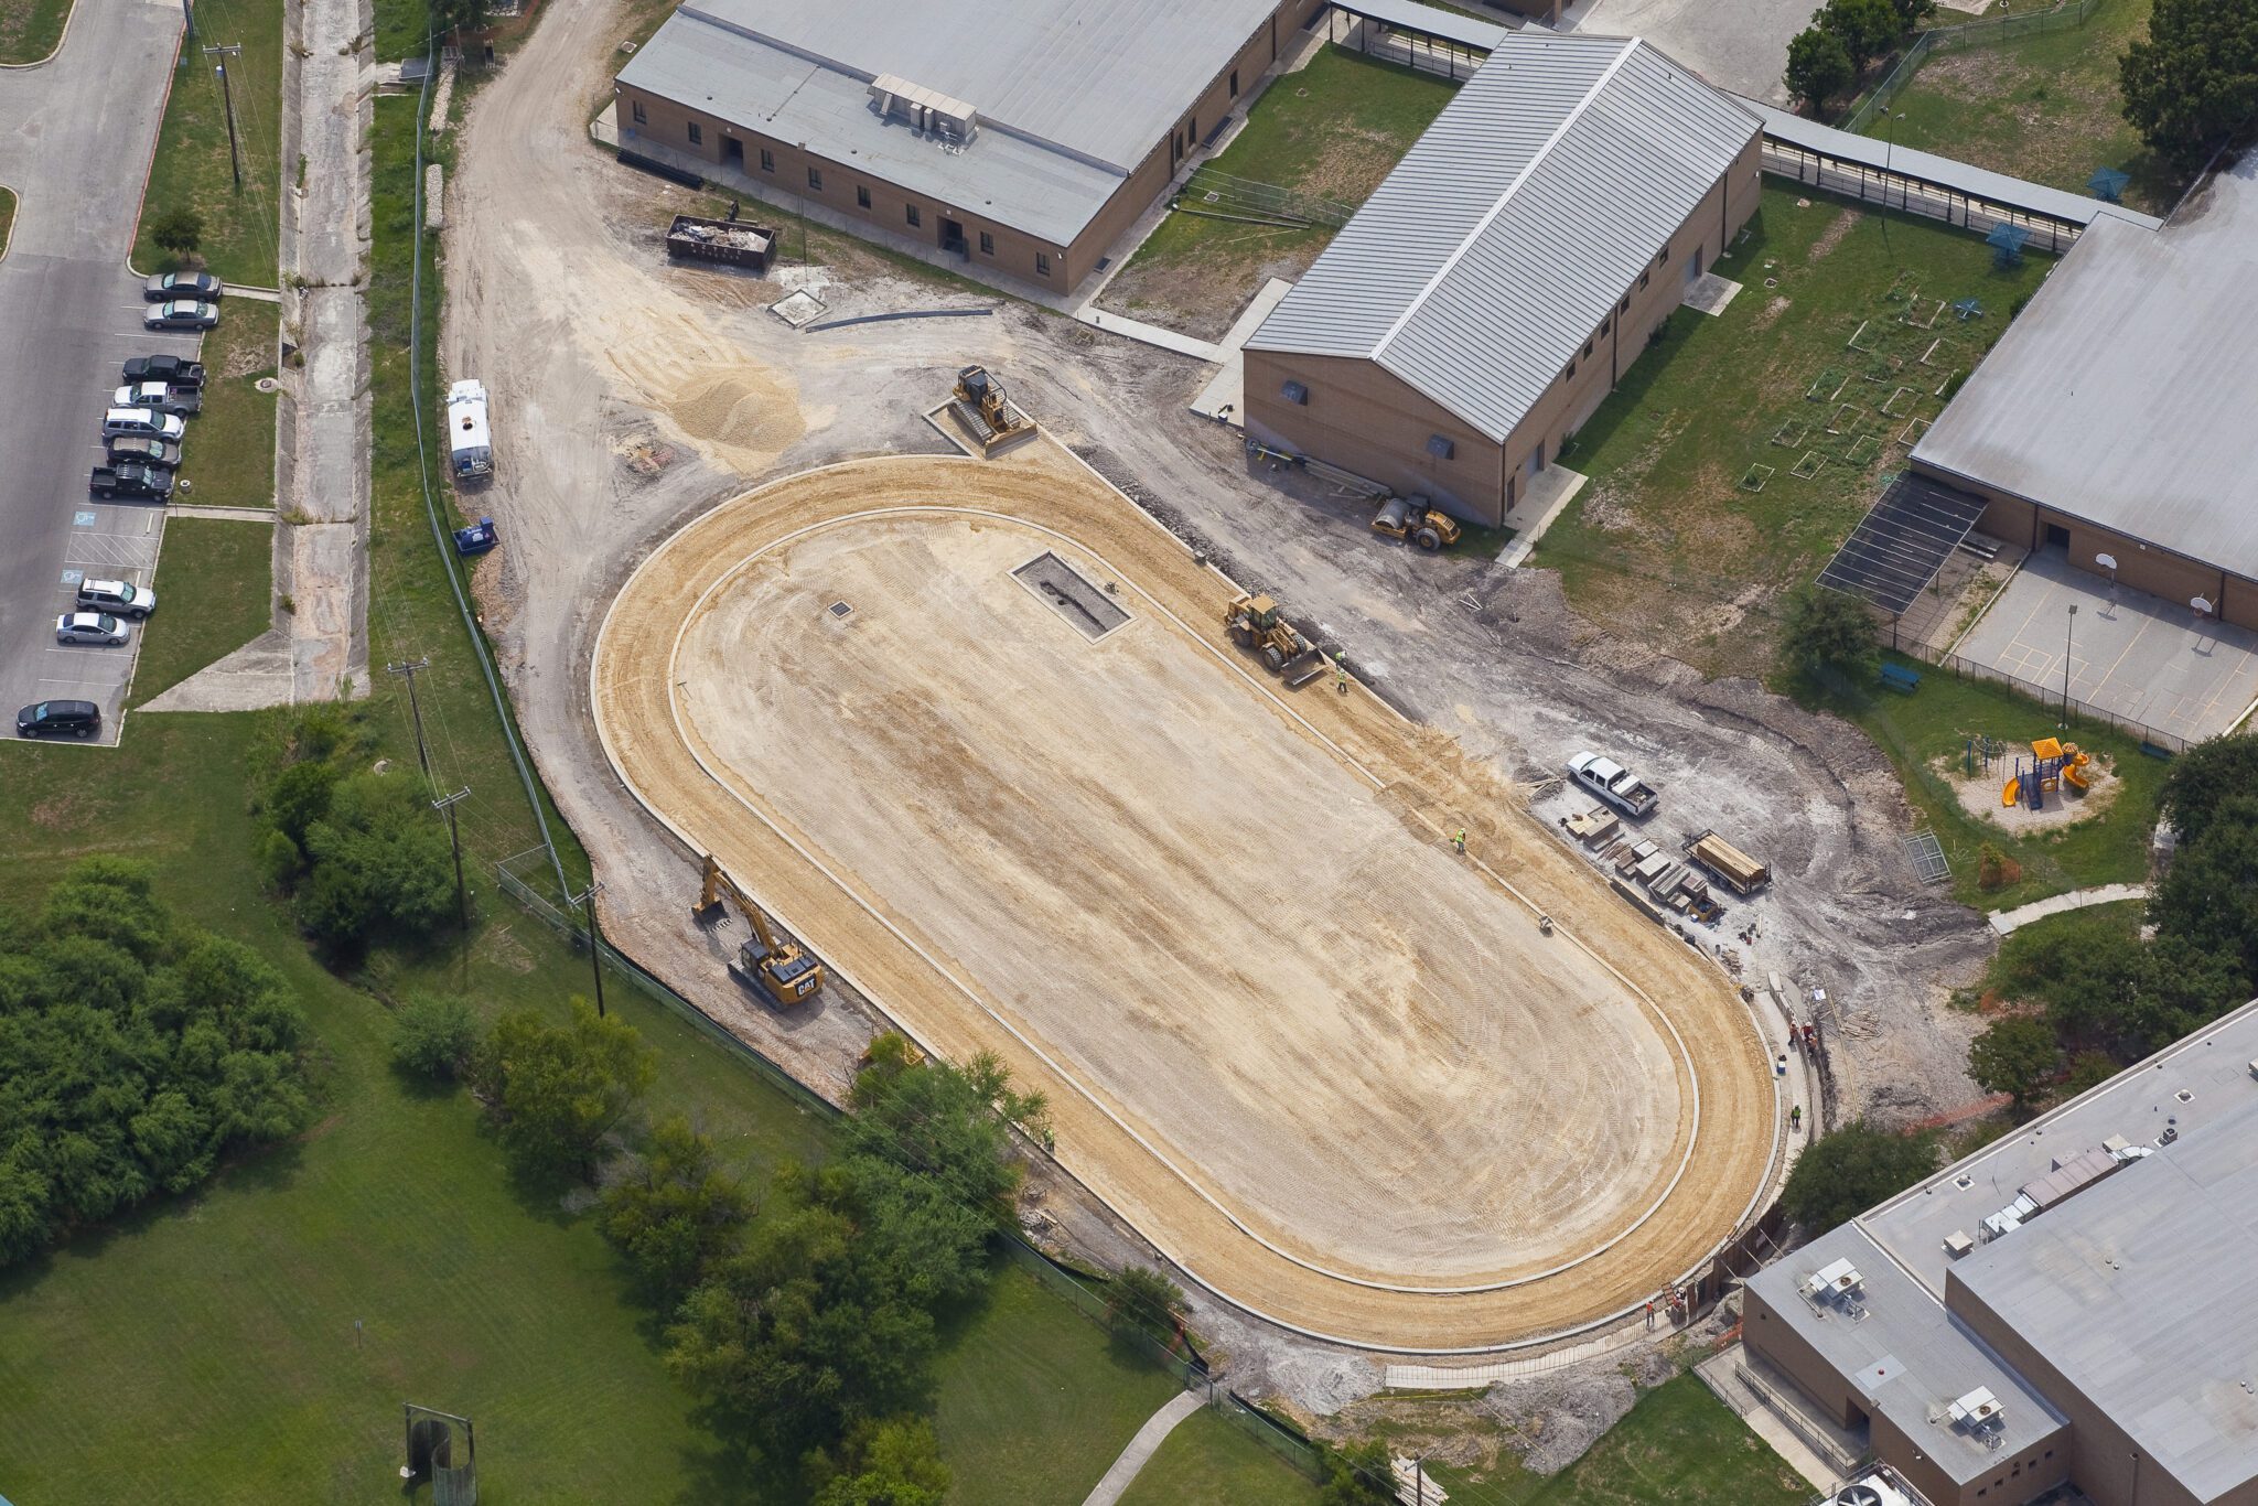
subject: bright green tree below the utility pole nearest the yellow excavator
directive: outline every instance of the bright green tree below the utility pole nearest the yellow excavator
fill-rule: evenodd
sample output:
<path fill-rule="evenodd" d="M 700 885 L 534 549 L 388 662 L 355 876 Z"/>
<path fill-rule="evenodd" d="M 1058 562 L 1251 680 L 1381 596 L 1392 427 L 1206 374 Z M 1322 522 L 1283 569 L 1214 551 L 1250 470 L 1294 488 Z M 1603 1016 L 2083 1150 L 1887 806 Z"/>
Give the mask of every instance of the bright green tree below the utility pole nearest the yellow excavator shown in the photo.
<path fill-rule="evenodd" d="M 587 1179 L 596 1147 L 657 1075 L 655 1057 L 632 1025 L 574 998 L 564 1025 L 533 1009 L 495 1021 L 476 1082 L 501 1113 L 501 1145 L 522 1167 Z"/>

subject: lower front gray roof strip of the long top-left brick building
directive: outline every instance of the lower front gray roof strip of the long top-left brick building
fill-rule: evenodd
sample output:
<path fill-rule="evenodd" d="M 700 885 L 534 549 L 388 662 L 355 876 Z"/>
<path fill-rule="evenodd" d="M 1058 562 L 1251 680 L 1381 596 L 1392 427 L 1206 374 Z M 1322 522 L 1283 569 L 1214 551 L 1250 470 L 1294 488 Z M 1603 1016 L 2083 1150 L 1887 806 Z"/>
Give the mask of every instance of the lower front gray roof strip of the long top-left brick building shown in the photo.
<path fill-rule="evenodd" d="M 745 131 L 806 142 L 817 156 L 863 167 L 942 208 L 973 210 L 1059 246 L 1073 242 L 1124 183 L 1118 172 L 1007 131 L 984 129 L 969 147 L 912 131 L 881 115 L 860 79 L 716 27 L 691 7 L 675 11 L 619 77 Z M 634 126 L 619 124 L 632 147 Z"/>

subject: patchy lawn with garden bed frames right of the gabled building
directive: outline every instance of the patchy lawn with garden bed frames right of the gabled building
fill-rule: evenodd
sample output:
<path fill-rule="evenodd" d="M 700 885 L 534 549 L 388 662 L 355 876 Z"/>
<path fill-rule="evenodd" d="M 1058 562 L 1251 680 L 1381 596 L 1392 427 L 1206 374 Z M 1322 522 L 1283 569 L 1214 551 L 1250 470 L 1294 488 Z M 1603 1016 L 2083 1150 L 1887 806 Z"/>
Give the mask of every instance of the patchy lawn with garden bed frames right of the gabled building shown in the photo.
<path fill-rule="evenodd" d="M 1578 612 L 1707 673 L 1770 664 L 1770 598 L 1818 573 L 1903 465 L 1906 427 L 1944 409 L 1937 388 L 1992 348 L 2050 264 L 1996 271 L 1964 230 L 1797 203 L 1793 185 L 1766 183 L 1716 262 L 1741 294 L 1716 318 L 1678 309 L 1563 449 L 1592 483 L 1533 555 Z M 1937 314 L 1969 296 L 1983 318 Z M 1915 307 L 1935 323 L 1901 323 Z"/>

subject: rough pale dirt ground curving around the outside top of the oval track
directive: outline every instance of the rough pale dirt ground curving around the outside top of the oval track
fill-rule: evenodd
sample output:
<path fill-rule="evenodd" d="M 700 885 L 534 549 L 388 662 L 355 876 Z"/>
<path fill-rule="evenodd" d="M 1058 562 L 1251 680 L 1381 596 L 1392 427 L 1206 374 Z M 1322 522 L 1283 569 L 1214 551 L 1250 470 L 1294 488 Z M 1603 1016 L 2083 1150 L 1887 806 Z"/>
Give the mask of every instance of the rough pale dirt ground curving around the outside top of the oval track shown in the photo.
<path fill-rule="evenodd" d="M 960 364 L 984 361 L 1050 434 L 1235 578 L 1274 589 L 1420 723 L 1529 781 L 1601 747 L 1662 788 L 1666 835 L 1716 826 L 1761 856 L 1773 892 L 1734 908 L 1761 930 L 1745 964 L 1827 989 L 1836 1118 L 1913 1120 L 1976 1097 L 1971 1021 L 1944 996 L 1992 939 L 1915 883 L 1897 781 L 1856 729 L 1610 641 L 1542 573 L 1416 555 L 1341 499 L 1249 474 L 1231 431 L 1183 413 L 1208 375 L 1194 361 L 1018 305 L 797 334 L 765 314 L 774 280 L 668 266 L 657 235 L 698 196 L 619 169 L 585 131 L 630 29 L 616 0 L 553 0 L 476 93 L 449 187 L 443 361 L 495 393 L 499 474 L 472 499 L 506 540 L 479 571 L 485 623 L 542 777 L 605 876 L 605 928 L 646 966 L 804 1079 L 838 1086 L 851 1070 L 869 1021 L 844 991 L 790 1018 L 752 1009 L 723 973 L 727 946 L 686 923 L 695 856 L 605 761 L 589 657 L 612 594 L 682 519 L 770 476 L 944 449 L 919 413 Z M 567 273 L 574 296 L 558 298 Z M 829 275 L 835 314 L 994 303 L 867 255 Z M 700 438 L 725 406 L 741 427 Z M 1258 1343 L 1240 1334 L 1233 1350 Z M 1323 1357 L 1276 1373 L 1305 1393 L 1332 1375 Z"/>

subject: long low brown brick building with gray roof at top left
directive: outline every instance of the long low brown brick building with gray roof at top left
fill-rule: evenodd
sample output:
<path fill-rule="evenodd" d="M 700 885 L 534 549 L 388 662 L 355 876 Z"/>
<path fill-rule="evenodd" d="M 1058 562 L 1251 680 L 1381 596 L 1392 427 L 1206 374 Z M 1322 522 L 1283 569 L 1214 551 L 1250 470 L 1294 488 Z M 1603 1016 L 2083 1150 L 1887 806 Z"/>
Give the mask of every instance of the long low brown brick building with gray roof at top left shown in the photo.
<path fill-rule="evenodd" d="M 619 72 L 619 147 L 1066 294 L 1323 7 L 689 0 Z"/>

